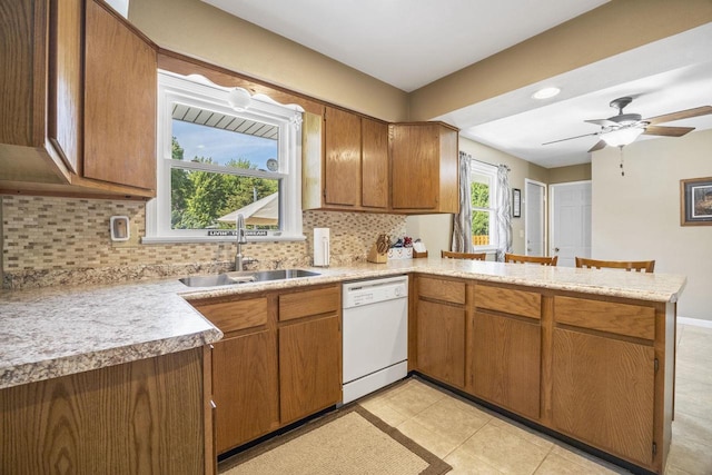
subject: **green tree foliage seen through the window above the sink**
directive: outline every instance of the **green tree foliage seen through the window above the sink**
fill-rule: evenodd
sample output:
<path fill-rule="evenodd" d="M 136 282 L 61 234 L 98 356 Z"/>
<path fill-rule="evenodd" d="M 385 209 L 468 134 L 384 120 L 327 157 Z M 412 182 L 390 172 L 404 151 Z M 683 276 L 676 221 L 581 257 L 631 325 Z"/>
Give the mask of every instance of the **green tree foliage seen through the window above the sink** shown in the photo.
<path fill-rule="evenodd" d="M 184 149 L 175 137 L 171 156 L 176 160 L 184 158 Z M 209 157 L 195 157 L 191 161 L 212 164 Z M 230 160 L 227 167 L 257 168 L 241 158 Z M 234 224 L 217 219 L 279 189 L 276 179 L 181 168 L 171 168 L 170 178 L 172 229 L 233 229 Z"/>

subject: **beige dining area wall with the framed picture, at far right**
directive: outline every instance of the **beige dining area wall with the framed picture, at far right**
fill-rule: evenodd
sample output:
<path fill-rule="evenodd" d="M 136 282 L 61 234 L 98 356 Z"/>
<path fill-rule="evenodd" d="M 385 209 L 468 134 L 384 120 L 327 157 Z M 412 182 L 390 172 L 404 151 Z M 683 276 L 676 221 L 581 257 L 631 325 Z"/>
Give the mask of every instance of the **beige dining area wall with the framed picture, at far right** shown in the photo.
<path fill-rule="evenodd" d="M 712 226 L 680 226 L 680 180 L 712 177 L 712 130 L 659 138 L 593 157 L 592 256 L 655 259 L 655 273 L 688 277 L 678 314 L 712 320 Z"/>

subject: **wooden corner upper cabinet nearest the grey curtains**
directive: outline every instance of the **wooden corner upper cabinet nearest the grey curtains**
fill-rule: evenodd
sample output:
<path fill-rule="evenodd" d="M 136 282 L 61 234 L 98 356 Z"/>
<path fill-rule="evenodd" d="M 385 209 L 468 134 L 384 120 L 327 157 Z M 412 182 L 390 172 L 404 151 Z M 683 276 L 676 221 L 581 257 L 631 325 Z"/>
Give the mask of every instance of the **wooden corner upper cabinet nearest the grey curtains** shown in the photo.
<path fill-rule="evenodd" d="M 392 123 L 390 207 L 396 212 L 457 212 L 457 129 L 442 122 Z"/>

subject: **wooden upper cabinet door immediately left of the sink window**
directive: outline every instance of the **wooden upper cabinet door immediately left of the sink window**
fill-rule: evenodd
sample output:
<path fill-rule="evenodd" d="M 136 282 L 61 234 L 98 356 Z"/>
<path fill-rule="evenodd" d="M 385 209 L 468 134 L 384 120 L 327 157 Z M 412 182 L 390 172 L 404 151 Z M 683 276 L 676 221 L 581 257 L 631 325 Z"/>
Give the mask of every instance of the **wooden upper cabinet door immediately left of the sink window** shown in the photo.
<path fill-rule="evenodd" d="M 156 189 L 156 51 L 87 1 L 83 176 Z"/>

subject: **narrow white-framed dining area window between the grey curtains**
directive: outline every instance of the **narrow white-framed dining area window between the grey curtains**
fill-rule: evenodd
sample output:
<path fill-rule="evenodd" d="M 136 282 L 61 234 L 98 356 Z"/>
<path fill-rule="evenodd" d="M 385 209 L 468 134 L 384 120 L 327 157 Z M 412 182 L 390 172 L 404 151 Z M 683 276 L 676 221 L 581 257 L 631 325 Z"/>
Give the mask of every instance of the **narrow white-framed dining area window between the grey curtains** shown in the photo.
<path fill-rule="evenodd" d="M 472 244 L 475 250 L 497 246 L 497 167 L 477 160 L 471 162 Z"/>

